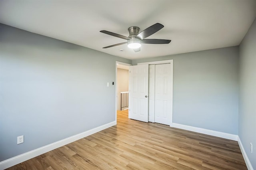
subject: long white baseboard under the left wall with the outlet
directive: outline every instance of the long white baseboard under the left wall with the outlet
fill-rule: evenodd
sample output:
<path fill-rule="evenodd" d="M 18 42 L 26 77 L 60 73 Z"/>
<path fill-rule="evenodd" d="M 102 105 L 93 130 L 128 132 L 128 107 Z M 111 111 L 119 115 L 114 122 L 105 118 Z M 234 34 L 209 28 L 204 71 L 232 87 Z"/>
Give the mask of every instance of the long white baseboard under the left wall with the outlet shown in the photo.
<path fill-rule="evenodd" d="M 90 129 L 90 130 L 87 130 L 85 132 L 82 132 L 82 133 L 79 133 L 79 134 L 76 134 L 74 136 L 70 136 L 68 138 L 65 138 L 65 139 L 62 139 L 62 140 L 59 140 L 57 142 L 54 142 L 54 143 L 51 143 L 51 144 L 48 144 L 46 146 L 42 146 L 40 148 L 37 148 L 35 150 L 31 150 L 29 152 L 26 152 L 24 154 L 20 154 L 18 156 L 15 156 L 13 158 L 10 158 L 10 159 L 7 159 L 7 160 L 4 160 L 2 162 L 0 162 L 0 170 L 4 170 L 6 168 L 9 168 L 11 166 L 14 166 L 16 164 L 19 164 L 21 162 L 24 162 L 26 160 L 29 160 L 31 158 L 34 158 L 36 156 L 39 156 L 41 154 L 44 154 L 46 152 L 49 152 L 51 150 L 54 150 L 56 148 L 59 148 L 61 146 L 64 146 L 66 144 L 69 144 L 71 142 L 74 142 L 76 140 L 79 140 L 81 138 L 84 138 L 86 136 L 89 136 L 91 134 L 94 134 L 96 132 L 99 132 L 101 130 L 104 130 L 106 128 L 109 128 L 109 127 L 112 127 L 116 125 L 116 121 L 113 121 L 113 122 L 110 122 L 110 123 L 107 123 L 105 125 L 102 125 L 100 127 L 96 127 L 96 128 L 93 128 L 93 129 Z"/>

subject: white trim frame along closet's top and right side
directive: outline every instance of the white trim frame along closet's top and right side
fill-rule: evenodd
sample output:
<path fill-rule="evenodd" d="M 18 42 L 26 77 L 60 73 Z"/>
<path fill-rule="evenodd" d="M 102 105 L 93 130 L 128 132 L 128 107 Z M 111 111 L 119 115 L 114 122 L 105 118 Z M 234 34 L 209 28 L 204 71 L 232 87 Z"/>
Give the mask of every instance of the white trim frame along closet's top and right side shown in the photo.
<path fill-rule="evenodd" d="M 151 62 L 145 62 L 145 63 L 138 63 L 138 65 L 141 65 L 141 64 L 148 64 L 148 65 L 151 65 L 151 64 L 168 64 L 170 63 L 171 64 L 171 120 L 170 120 L 170 127 L 173 127 L 172 126 L 172 113 L 173 113 L 173 59 L 170 59 L 170 60 L 163 60 L 163 61 L 151 61 Z"/>

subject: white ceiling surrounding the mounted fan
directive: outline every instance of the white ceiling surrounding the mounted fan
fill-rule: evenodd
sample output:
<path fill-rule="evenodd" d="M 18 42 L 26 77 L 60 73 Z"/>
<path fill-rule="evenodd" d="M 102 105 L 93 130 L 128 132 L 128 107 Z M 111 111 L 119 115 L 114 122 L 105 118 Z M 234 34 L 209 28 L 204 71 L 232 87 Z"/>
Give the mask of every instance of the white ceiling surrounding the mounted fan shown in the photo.
<path fill-rule="evenodd" d="M 255 17 L 256 0 L 0 0 L 0 23 L 128 59 L 239 45 Z M 170 44 L 102 49 L 126 40 L 100 30 L 128 36 L 157 22 L 148 38 Z"/>

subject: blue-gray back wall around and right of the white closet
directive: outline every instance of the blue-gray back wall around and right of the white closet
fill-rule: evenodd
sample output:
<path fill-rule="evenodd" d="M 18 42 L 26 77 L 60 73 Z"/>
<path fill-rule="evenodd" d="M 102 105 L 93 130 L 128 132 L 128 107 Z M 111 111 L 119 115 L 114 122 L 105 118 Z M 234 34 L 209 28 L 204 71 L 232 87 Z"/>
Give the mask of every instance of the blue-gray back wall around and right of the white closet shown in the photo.
<path fill-rule="evenodd" d="M 173 59 L 173 122 L 238 134 L 238 47 L 133 60 Z"/>

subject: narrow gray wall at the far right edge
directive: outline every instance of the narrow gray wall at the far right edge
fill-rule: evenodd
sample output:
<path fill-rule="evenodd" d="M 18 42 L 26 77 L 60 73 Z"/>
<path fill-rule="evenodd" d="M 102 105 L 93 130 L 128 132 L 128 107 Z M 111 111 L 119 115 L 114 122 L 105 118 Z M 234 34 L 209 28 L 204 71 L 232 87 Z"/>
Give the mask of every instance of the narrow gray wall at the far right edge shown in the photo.
<path fill-rule="evenodd" d="M 239 46 L 239 137 L 256 169 L 256 20 Z M 250 152 L 250 142 L 253 152 Z"/>

